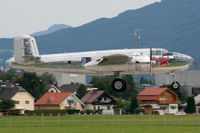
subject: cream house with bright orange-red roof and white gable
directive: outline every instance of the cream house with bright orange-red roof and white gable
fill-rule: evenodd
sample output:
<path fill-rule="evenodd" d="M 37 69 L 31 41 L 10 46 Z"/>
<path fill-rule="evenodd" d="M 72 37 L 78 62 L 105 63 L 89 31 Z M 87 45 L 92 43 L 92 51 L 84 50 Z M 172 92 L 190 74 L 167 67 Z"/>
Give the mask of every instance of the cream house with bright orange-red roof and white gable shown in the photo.
<path fill-rule="evenodd" d="M 47 92 L 35 103 L 35 109 L 79 109 L 84 103 L 71 92 Z"/>

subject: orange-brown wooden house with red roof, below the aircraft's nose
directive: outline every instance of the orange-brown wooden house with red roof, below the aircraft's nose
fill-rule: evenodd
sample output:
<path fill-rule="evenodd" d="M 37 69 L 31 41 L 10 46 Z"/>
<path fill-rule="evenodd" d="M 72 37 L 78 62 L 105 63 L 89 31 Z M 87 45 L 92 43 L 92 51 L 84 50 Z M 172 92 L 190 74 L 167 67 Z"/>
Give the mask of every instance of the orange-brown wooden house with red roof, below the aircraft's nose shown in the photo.
<path fill-rule="evenodd" d="M 137 95 L 148 114 L 175 114 L 178 96 L 168 88 L 146 88 Z"/>

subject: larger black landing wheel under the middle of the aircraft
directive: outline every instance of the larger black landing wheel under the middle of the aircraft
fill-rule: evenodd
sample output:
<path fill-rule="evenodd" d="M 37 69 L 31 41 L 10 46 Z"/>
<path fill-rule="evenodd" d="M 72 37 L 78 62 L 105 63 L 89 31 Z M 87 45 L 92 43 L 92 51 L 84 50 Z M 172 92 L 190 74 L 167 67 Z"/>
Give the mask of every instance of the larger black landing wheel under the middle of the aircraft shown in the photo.
<path fill-rule="evenodd" d="M 112 88 L 116 92 L 124 92 L 126 90 L 126 81 L 120 78 L 116 78 L 112 81 Z"/>

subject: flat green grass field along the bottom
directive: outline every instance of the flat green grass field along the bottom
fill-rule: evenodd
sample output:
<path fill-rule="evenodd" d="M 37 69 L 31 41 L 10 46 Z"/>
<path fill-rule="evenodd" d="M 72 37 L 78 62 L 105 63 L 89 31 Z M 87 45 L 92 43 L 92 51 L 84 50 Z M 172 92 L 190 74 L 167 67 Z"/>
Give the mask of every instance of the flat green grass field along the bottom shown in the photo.
<path fill-rule="evenodd" d="M 0 117 L 0 133 L 199 133 L 200 116 Z"/>

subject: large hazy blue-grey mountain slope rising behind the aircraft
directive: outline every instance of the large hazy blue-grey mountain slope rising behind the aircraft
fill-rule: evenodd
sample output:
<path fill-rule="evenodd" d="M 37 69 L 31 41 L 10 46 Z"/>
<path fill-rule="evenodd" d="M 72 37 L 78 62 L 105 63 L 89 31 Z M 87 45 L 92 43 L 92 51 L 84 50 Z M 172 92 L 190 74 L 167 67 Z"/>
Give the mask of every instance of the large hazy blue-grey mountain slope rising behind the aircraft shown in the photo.
<path fill-rule="evenodd" d="M 140 47 L 167 48 L 200 62 L 200 1 L 162 0 L 114 18 L 101 18 L 80 27 L 36 37 L 40 53 L 134 48 L 134 29 L 140 28 Z M 4 40 L 5 41 L 5 40 Z M 4 46 L 12 48 L 8 39 Z M 0 39 L 0 46 L 3 45 Z"/>

